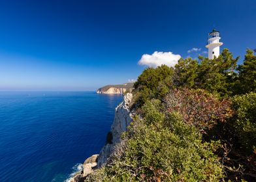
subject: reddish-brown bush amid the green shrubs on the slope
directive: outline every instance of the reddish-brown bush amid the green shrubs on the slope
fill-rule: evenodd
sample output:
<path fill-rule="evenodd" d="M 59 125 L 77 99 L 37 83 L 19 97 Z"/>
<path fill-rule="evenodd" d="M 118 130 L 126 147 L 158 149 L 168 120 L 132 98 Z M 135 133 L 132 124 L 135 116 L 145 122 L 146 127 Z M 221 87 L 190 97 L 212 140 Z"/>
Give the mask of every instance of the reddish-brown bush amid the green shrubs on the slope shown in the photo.
<path fill-rule="evenodd" d="M 231 115 L 230 101 L 219 101 L 204 90 L 174 89 L 165 97 L 168 112 L 180 112 L 184 121 L 201 131 L 209 129 L 218 121 L 224 122 Z"/>

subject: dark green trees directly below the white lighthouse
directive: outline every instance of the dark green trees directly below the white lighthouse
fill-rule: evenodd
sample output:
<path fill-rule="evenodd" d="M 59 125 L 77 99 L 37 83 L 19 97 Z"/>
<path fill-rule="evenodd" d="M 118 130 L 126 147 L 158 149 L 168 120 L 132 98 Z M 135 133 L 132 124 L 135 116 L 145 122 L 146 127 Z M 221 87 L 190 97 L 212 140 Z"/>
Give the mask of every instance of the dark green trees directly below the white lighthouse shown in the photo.
<path fill-rule="evenodd" d="M 236 62 L 228 49 L 215 59 L 180 59 L 174 69 L 173 82 L 178 88 L 202 88 L 225 98 L 234 90 Z"/>

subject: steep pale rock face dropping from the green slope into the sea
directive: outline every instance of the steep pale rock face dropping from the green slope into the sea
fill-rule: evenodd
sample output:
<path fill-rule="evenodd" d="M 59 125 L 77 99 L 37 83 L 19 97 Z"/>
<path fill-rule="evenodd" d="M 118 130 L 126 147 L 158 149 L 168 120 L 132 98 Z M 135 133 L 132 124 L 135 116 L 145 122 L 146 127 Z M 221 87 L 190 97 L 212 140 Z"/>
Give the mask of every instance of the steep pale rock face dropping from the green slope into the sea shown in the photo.
<path fill-rule="evenodd" d="M 83 171 L 80 174 L 74 175 L 70 180 L 71 182 L 84 181 L 86 176 L 91 174 L 95 168 L 100 168 L 106 164 L 108 157 L 114 150 L 114 147 L 118 142 L 120 142 L 121 134 L 126 131 L 127 126 L 132 121 L 133 114 L 129 108 L 132 98 L 133 94 L 125 94 L 123 101 L 118 105 L 118 107 L 116 107 L 114 122 L 112 123 L 110 133 L 108 133 L 106 138 L 107 141 L 105 146 L 101 149 L 99 155 L 92 155 L 84 161 Z"/>

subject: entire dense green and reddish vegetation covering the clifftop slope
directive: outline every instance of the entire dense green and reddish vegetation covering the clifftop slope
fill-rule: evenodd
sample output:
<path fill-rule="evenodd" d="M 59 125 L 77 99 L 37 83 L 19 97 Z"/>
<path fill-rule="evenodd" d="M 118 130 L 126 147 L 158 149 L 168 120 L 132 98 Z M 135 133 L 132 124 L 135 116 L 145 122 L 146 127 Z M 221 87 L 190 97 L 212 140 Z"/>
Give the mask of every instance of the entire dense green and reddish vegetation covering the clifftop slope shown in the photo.
<path fill-rule="evenodd" d="M 88 181 L 256 181 L 256 56 L 147 68 L 133 91 L 136 116 Z"/>

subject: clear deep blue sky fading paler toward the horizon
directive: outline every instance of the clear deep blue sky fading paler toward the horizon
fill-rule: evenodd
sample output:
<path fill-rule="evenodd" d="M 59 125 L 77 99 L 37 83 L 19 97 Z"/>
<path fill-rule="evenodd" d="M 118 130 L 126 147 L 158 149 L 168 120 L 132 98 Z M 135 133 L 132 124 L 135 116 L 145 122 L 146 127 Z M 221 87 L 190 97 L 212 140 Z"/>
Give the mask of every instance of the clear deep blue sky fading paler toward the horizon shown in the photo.
<path fill-rule="evenodd" d="M 256 1 L 10 0 L 0 25 L 0 90 L 96 90 L 136 79 L 144 54 L 197 57 L 214 26 L 241 63 L 256 48 Z"/>

